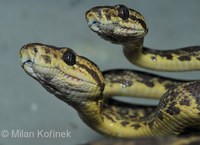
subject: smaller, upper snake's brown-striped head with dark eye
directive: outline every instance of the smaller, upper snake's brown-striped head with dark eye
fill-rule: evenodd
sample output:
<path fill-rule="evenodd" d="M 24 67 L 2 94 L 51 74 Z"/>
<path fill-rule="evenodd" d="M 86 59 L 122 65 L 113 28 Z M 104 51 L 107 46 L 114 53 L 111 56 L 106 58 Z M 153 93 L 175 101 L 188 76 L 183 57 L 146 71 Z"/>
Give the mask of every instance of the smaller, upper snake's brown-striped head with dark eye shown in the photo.
<path fill-rule="evenodd" d="M 144 17 L 124 5 L 94 7 L 85 17 L 92 31 L 112 43 L 141 38 L 148 32 Z"/>

